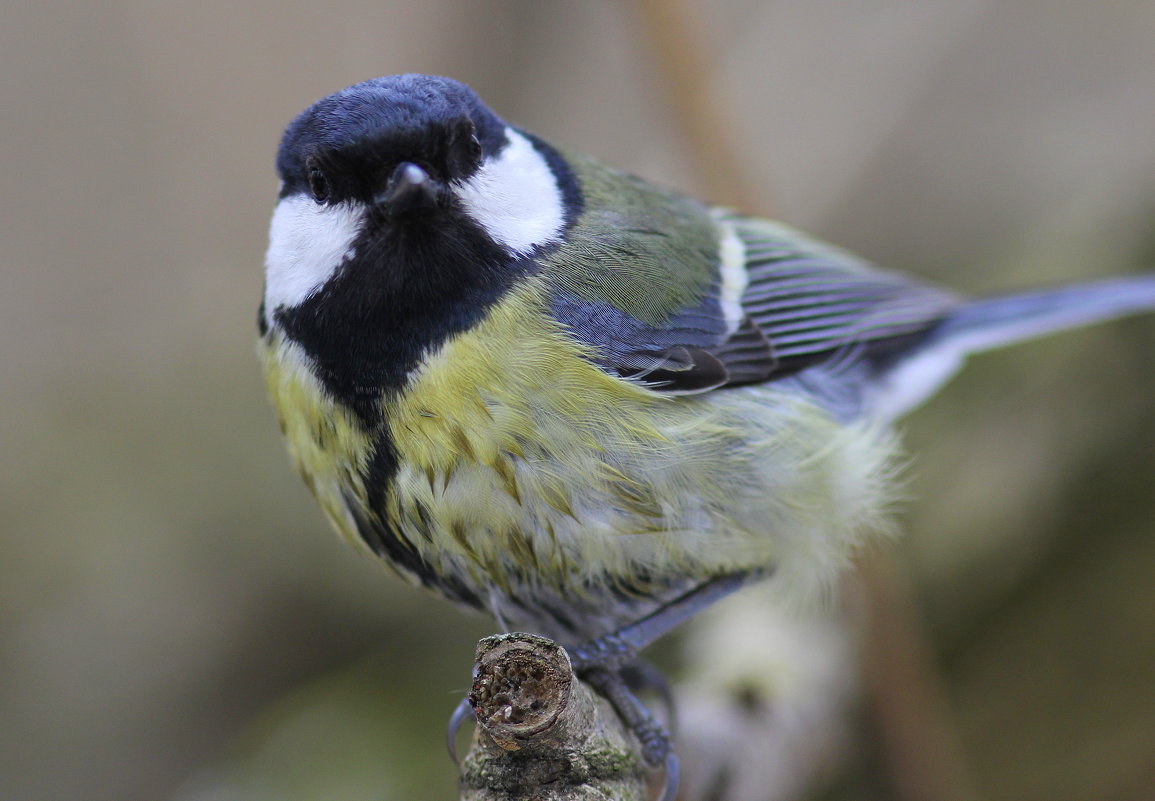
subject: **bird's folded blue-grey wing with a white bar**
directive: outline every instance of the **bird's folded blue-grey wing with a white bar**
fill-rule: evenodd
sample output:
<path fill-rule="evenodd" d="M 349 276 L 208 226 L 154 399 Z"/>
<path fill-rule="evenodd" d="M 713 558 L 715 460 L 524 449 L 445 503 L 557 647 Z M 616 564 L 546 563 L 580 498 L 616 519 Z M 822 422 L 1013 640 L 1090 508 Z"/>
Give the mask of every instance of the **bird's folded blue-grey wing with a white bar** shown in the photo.
<path fill-rule="evenodd" d="M 815 366 L 857 367 L 847 374 L 862 375 L 863 366 L 882 366 L 917 346 L 957 305 L 941 290 L 874 269 L 787 226 L 745 217 L 720 224 L 740 240 L 744 263 L 735 270 L 720 255 L 715 280 L 661 324 L 564 291 L 553 295 L 554 316 L 594 346 L 606 369 L 687 394 Z M 725 298 L 736 280 L 745 284 L 737 309 Z"/>

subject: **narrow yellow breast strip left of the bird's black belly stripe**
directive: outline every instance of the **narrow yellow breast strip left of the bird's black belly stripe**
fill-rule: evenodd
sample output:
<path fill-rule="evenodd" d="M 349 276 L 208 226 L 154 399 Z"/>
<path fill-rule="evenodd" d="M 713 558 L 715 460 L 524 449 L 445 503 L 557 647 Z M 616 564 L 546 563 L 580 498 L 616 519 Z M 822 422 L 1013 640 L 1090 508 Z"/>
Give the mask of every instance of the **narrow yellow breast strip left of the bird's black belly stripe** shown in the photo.
<path fill-rule="evenodd" d="M 297 471 L 338 533 L 364 547 L 345 497 L 357 499 L 364 509 L 362 474 L 372 442 L 352 412 L 325 394 L 299 346 L 274 330 L 269 342 L 260 344 L 259 353 L 269 398 Z"/>

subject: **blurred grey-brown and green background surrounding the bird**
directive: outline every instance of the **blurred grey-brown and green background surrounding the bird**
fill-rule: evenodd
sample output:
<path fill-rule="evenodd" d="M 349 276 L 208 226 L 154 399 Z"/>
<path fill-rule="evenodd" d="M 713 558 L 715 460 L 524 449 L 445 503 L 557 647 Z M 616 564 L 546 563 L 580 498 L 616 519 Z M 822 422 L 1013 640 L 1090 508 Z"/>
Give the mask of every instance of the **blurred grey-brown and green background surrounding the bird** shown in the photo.
<path fill-rule="evenodd" d="M 988 293 L 1155 269 L 1153 33 L 1147 0 L 8 0 L 0 798 L 456 796 L 444 725 L 492 626 L 331 536 L 254 359 L 307 104 L 447 74 Z M 1155 796 L 1155 320 L 977 359 L 906 428 L 907 536 L 879 549 L 975 796 Z M 902 798 L 875 708 L 798 798 Z"/>

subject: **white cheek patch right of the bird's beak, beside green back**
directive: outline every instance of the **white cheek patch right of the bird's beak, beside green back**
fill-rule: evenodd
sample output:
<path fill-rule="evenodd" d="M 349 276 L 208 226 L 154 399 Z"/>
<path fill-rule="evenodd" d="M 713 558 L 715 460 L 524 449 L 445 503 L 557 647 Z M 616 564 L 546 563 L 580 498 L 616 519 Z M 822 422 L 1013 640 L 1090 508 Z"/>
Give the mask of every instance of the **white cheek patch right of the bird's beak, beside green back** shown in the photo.
<path fill-rule="evenodd" d="M 565 207 L 542 154 L 513 128 L 506 128 L 506 136 L 505 150 L 453 189 L 494 241 L 514 253 L 529 253 L 535 246 L 558 241 Z"/>

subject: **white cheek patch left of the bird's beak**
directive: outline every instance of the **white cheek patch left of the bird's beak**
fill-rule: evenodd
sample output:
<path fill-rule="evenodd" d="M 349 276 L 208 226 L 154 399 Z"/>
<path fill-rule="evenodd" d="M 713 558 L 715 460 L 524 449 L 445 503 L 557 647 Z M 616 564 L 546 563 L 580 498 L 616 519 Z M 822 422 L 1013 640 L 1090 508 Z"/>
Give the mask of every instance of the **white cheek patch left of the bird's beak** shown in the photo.
<path fill-rule="evenodd" d="M 363 210 L 352 203 L 322 205 L 305 195 L 277 203 L 264 254 L 264 308 L 299 306 L 352 255 Z"/>

